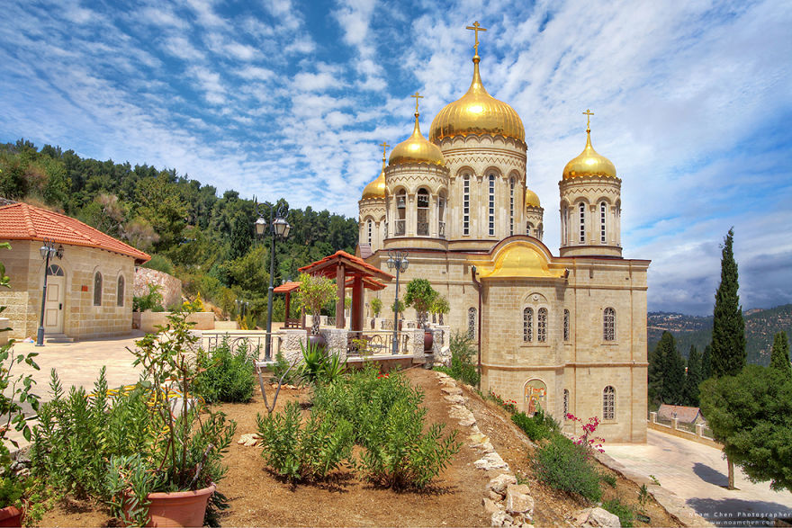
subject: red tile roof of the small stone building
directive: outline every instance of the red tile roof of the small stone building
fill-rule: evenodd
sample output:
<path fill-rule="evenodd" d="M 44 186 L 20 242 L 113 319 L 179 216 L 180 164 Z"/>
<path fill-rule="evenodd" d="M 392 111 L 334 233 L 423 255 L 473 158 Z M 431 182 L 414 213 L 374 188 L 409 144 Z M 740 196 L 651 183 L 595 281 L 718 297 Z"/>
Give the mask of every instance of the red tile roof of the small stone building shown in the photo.
<path fill-rule="evenodd" d="M 135 259 L 135 264 L 143 264 L 151 259 L 139 249 L 64 214 L 23 202 L 0 206 L 0 240 L 45 238 L 51 238 L 60 244 L 96 247 L 131 256 Z"/>

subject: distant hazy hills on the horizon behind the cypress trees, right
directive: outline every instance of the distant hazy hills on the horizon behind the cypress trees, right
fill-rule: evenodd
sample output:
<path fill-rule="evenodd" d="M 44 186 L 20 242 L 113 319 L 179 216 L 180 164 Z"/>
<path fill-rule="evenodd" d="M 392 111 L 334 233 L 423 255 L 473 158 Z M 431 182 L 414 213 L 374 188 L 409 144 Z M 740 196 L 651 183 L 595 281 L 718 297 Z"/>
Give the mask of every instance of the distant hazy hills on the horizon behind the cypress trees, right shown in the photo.
<path fill-rule="evenodd" d="M 750 309 L 743 313 L 748 362 L 767 366 L 770 364 L 770 348 L 773 336 L 785 330 L 792 336 L 792 304 L 771 309 Z M 663 331 L 668 330 L 677 340 L 677 350 L 688 357 L 690 345 L 699 352 L 712 341 L 712 316 L 688 316 L 667 312 L 649 312 L 647 319 L 649 350 L 660 341 Z"/>

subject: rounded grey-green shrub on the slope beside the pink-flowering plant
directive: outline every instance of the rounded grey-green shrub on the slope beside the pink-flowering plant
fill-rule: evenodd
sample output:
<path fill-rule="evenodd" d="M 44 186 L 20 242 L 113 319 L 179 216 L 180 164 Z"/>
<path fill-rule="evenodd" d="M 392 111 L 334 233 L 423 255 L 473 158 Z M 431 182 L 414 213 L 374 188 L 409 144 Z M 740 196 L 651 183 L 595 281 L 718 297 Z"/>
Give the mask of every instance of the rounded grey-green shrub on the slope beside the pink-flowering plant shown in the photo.
<path fill-rule="evenodd" d="M 533 461 L 536 478 L 553 488 L 580 494 L 591 501 L 602 495 L 599 473 L 586 457 L 586 449 L 562 434 L 536 449 Z"/>

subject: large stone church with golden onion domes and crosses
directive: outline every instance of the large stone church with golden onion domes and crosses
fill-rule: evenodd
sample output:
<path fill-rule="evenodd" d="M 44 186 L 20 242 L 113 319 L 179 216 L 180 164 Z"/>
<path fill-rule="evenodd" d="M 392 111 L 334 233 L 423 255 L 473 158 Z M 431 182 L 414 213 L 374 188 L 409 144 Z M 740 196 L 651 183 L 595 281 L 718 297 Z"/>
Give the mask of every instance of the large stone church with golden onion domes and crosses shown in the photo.
<path fill-rule="evenodd" d="M 468 29 L 476 34 L 470 88 L 437 113 L 428 139 L 414 95 L 410 138 L 387 163 L 383 144 L 383 170 L 358 202 L 358 255 L 384 268 L 390 250 L 409 252 L 402 284 L 426 278 L 446 297 L 446 324 L 479 345 L 483 392 L 527 413 L 541 406 L 570 433 L 568 413 L 598 416 L 607 442 L 644 443 L 650 262 L 622 257 L 616 167 L 592 147 L 587 110 L 585 147 L 559 167 L 553 255 L 545 210 L 528 188 L 525 127 L 487 93 L 478 53 L 486 30 Z M 384 306 L 394 287 L 379 292 Z"/>

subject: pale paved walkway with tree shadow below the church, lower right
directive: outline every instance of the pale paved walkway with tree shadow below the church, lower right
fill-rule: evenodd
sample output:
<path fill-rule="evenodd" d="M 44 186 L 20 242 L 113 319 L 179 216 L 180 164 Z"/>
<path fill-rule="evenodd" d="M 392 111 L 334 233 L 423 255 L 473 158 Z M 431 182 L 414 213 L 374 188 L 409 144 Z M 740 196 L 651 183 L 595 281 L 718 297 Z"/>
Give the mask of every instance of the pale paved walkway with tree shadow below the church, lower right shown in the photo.
<path fill-rule="evenodd" d="M 721 451 L 659 431 L 647 433 L 646 444 L 606 444 L 605 452 L 630 470 L 653 475 L 713 524 L 767 526 L 775 517 L 792 517 L 792 493 L 773 491 L 768 482 L 753 484 L 739 468 L 737 489 L 726 489 L 728 466 Z"/>

